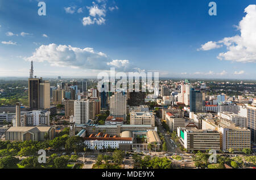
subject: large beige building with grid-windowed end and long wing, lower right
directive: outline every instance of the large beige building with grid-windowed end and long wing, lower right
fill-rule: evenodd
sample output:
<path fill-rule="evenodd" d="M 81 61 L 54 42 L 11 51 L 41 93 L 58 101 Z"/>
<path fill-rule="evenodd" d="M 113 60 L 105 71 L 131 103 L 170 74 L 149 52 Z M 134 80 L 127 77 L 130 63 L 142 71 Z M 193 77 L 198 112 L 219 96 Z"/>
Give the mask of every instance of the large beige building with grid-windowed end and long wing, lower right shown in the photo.
<path fill-rule="evenodd" d="M 221 149 L 242 150 L 251 148 L 249 129 L 236 127 L 236 125 L 225 119 L 203 119 L 202 129 L 213 129 L 220 132 Z"/>

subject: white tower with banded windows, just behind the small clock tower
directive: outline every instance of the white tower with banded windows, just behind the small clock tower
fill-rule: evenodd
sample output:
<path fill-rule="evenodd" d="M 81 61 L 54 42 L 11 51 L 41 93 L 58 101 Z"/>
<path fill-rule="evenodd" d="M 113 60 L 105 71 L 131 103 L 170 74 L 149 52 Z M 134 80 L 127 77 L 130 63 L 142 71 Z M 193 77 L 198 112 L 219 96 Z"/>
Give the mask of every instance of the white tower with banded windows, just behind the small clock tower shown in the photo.
<path fill-rule="evenodd" d="M 74 116 L 76 124 L 86 124 L 89 121 L 89 100 L 76 100 L 74 103 Z"/>

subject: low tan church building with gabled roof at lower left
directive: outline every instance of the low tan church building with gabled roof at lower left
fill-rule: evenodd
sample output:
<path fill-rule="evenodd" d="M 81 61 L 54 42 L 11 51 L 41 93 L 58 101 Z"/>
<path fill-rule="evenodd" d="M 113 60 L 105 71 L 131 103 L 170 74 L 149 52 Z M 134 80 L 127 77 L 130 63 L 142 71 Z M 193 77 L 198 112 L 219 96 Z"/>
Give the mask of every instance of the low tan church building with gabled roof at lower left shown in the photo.
<path fill-rule="evenodd" d="M 45 135 L 52 140 L 55 137 L 53 127 L 38 125 L 36 127 L 10 127 L 5 132 L 6 141 L 44 141 Z"/>

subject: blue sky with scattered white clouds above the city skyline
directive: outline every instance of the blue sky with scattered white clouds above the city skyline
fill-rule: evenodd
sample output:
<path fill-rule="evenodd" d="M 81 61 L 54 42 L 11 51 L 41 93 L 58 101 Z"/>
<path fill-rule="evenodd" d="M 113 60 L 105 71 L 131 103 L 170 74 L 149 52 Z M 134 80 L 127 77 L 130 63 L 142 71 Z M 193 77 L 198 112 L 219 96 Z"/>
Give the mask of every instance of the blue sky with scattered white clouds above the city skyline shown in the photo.
<path fill-rule="evenodd" d="M 255 1 L 214 1 L 217 16 L 205 0 L 45 0 L 46 16 L 38 2 L 0 0 L 1 77 L 28 77 L 34 60 L 40 77 L 97 76 L 114 67 L 256 79 Z"/>

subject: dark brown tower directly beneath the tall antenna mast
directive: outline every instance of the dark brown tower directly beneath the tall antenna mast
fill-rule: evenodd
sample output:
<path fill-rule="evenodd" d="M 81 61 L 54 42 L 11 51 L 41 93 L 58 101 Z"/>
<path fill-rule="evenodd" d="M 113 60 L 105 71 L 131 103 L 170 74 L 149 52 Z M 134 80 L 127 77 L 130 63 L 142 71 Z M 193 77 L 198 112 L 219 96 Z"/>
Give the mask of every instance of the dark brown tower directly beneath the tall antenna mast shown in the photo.
<path fill-rule="evenodd" d="M 39 83 L 38 78 L 28 79 L 28 106 L 33 110 L 39 109 Z"/>

